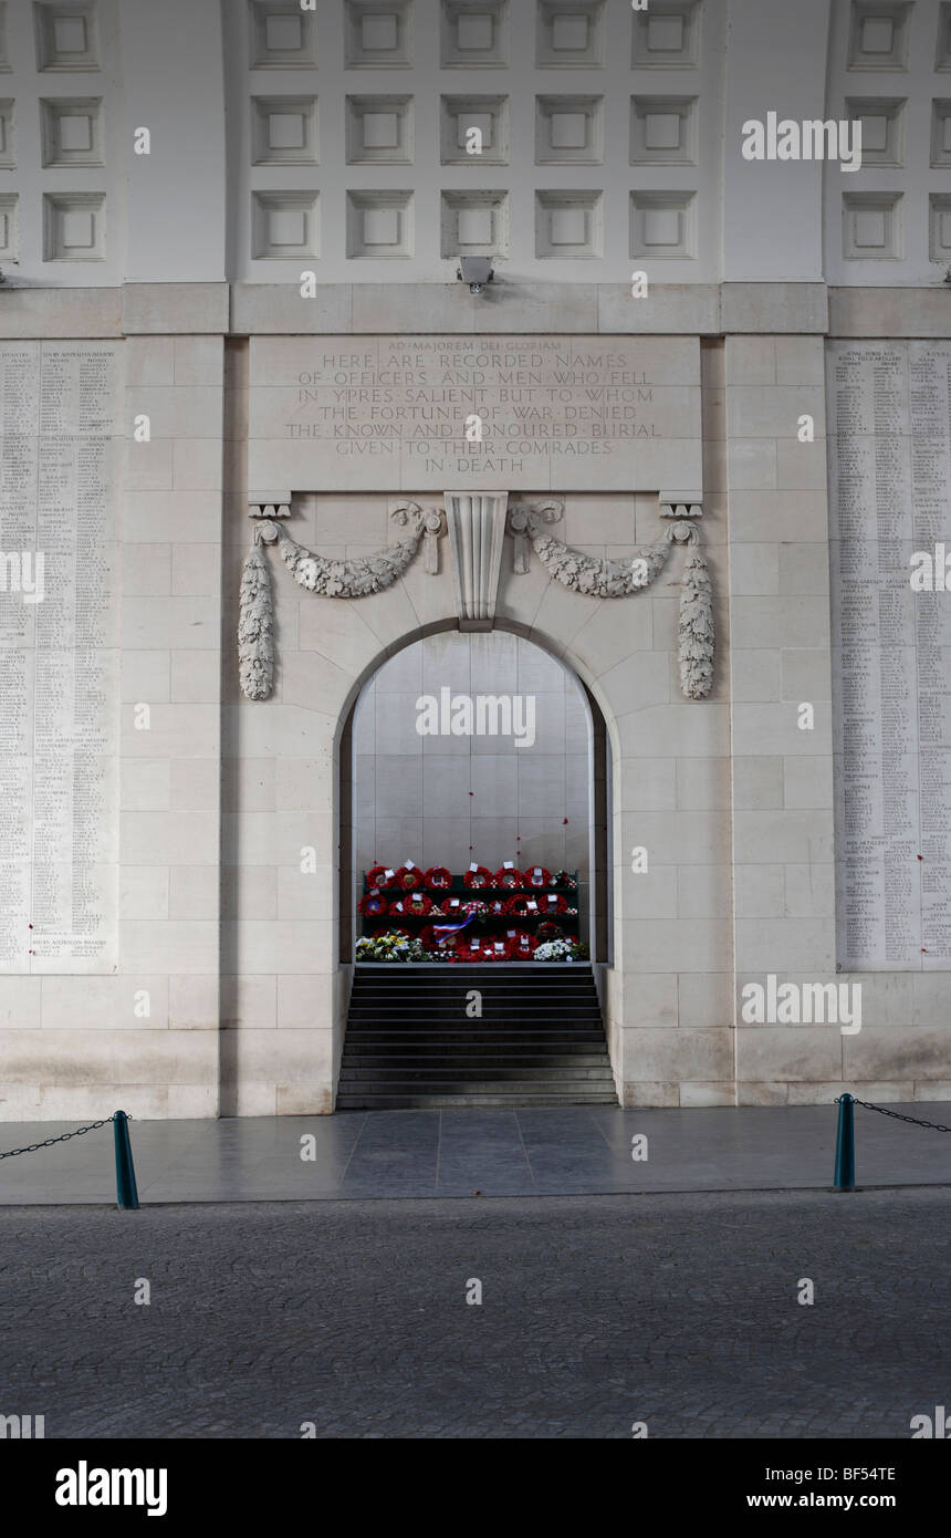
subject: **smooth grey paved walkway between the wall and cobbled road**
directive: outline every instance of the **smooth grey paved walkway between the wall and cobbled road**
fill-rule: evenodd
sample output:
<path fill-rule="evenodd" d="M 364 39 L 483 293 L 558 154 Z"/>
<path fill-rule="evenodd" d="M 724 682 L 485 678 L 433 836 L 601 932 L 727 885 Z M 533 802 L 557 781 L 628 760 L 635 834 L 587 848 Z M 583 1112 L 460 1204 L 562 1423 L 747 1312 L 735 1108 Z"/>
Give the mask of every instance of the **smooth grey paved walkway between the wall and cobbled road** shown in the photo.
<path fill-rule="evenodd" d="M 894 1106 L 948 1126 L 951 1106 Z M 134 1121 L 143 1203 L 828 1189 L 834 1106 L 567 1106 Z M 75 1126 L 75 1123 L 72 1123 Z M 0 1150 L 69 1124 L 5 1123 Z M 631 1138 L 650 1158 L 635 1163 Z M 313 1160 L 301 1158 L 312 1138 Z M 860 1186 L 951 1184 L 951 1134 L 856 1109 Z M 0 1203 L 115 1201 L 112 1129 L 0 1161 Z"/>

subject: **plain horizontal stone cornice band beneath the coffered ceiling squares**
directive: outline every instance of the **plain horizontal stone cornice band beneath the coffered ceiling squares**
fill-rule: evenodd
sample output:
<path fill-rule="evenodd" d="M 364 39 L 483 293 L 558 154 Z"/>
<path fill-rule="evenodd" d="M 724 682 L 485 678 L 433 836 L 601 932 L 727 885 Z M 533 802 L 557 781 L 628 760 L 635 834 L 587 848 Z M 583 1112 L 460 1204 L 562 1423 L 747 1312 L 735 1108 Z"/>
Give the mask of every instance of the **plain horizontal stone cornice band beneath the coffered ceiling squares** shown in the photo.
<path fill-rule="evenodd" d="M 2 266 L 2 263 L 0 263 Z M 951 286 L 659 283 L 635 300 L 622 283 L 515 283 L 475 311 L 446 283 L 326 283 L 303 300 L 289 283 L 126 283 L 0 289 L 0 340 L 144 335 L 830 335 L 946 337 Z M 403 295 L 404 305 L 399 303 Z M 424 326 L 413 323 L 426 312 Z M 409 317 L 409 318 L 407 318 Z"/>

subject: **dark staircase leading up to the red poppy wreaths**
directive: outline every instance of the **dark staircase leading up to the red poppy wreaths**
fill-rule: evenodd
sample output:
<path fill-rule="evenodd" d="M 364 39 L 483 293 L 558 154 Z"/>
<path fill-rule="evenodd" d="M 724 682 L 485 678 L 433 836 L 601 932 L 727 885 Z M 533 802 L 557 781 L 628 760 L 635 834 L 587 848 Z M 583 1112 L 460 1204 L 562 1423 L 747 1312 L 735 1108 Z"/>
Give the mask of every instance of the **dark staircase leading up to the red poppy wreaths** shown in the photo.
<path fill-rule="evenodd" d="M 590 966 L 353 969 L 338 1110 L 616 1104 Z"/>

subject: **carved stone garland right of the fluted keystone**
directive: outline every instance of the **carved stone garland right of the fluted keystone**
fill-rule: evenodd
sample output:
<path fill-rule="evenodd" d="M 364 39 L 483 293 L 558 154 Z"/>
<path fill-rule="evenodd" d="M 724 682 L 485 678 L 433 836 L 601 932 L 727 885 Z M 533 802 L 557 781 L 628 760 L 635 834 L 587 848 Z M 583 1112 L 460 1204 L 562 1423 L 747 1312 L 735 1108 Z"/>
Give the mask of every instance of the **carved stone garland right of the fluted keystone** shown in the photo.
<path fill-rule="evenodd" d="M 556 501 L 512 509 L 509 529 L 515 537 L 516 574 L 529 571 L 529 541 L 545 571 L 562 588 L 591 598 L 625 598 L 650 588 L 667 566 L 673 546 L 687 544 L 678 637 L 681 689 L 688 700 L 705 700 L 713 687 L 714 628 L 713 586 L 693 521 L 701 515 L 699 506 L 687 504 L 681 511 L 681 504 L 671 504 L 665 517 L 673 521 L 664 538 L 624 560 L 599 560 L 556 540 L 547 529 L 559 521 L 562 511 Z"/>

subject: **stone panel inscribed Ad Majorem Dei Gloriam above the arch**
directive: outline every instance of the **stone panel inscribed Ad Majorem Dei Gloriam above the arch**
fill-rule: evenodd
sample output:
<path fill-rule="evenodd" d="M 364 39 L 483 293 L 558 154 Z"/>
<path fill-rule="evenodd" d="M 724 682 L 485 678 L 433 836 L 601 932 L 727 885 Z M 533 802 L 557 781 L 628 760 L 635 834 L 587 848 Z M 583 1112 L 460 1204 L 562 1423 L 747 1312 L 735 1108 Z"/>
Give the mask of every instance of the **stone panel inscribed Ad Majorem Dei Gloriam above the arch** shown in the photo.
<path fill-rule="evenodd" d="M 690 337 L 253 337 L 249 484 L 699 489 Z"/>

